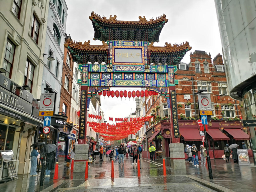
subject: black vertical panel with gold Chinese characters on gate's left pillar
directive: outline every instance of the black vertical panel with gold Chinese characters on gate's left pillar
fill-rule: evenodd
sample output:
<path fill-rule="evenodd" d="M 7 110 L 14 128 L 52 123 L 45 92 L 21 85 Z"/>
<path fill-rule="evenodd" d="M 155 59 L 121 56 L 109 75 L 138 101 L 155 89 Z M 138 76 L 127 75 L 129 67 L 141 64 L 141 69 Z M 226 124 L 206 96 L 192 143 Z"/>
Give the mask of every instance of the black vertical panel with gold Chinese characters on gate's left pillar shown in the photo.
<path fill-rule="evenodd" d="M 79 122 L 79 139 L 84 139 L 85 134 L 85 115 L 86 115 L 86 90 L 81 91 L 81 102 L 80 102 L 80 122 Z"/>

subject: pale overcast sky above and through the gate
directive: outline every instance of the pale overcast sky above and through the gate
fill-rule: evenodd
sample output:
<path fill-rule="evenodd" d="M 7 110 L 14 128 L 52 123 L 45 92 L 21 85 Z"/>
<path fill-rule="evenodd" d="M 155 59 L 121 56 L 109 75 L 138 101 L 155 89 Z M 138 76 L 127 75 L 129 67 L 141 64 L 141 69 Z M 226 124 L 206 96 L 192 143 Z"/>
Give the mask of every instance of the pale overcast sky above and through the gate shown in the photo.
<path fill-rule="evenodd" d="M 66 3 L 68 6 L 66 33 L 76 41 L 90 40 L 91 45 L 102 44 L 98 40 L 93 40 L 94 30 L 89 19 L 92 11 L 101 17 L 109 18 L 110 15 L 116 15 L 117 20 L 130 21 L 138 21 L 138 16 L 146 16 L 149 20 L 165 14 L 169 20 L 161 31 L 159 42 L 154 43 L 154 46 L 164 46 L 165 42 L 179 44 L 188 41 L 192 46 L 192 53 L 195 50 L 204 50 L 211 53 L 212 59 L 218 53 L 222 54 L 216 9 L 212 0 L 66 0 Z M 190 51 L 182 62 L 190 62 L 189 54 Z M 101 101 L 101 108 L 107 119 L 109 116 L 122 118 L 135 111 L 133 99 L 129 102 L 128 98 L 121 101 L 116 98 L 108 99 L 106 96 L 105 99 L 102 97 Z"/>

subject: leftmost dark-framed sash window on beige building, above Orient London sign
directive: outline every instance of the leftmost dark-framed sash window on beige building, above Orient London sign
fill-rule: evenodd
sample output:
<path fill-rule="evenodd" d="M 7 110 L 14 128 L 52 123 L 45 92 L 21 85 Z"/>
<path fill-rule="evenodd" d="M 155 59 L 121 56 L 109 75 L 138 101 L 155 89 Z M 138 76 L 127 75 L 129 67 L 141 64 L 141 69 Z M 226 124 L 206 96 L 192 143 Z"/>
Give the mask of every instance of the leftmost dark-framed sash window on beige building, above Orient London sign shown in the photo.
<path fill-rule="evenodd" d="M 4 63 L 3 68 L 7 71 L 3 73 L 6 77 L 11 78 L 11 71 L 13 67 L 14 53 L 15 53 L 15 45 L 13 42 L 7 38 L 5 53 L 4 53 Z"/>

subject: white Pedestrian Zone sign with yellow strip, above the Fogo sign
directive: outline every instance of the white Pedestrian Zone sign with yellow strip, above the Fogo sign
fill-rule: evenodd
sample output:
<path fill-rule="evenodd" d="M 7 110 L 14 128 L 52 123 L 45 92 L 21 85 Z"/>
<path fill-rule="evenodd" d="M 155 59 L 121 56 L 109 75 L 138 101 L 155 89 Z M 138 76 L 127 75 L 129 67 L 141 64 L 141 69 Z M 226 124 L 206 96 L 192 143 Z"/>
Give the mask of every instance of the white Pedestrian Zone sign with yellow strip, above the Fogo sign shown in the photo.
<path fill-rule="evenodd" d="M 52 116 L 55 106 L 55 93 L 41 93 L 39 116 Z"/>

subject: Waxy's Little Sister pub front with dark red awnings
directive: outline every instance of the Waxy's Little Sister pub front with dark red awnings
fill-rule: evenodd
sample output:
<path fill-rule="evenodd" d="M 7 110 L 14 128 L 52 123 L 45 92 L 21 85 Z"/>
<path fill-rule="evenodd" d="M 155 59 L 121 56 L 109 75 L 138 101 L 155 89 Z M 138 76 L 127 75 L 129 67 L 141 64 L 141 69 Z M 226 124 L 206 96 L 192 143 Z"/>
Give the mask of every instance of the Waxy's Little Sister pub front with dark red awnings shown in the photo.
<path fill-rule="evenodd" d="M 201 144 L 205 144 L 205 137 L 200 136 L 199 131 L 200 127 L 195 120 L 179 120 L 180 142 L 184 147 L 187 144 L 195 144 L 199 148 Z M 249 144 L 249 135 L 243 131 L 242 123 L 239 121 L 210 121 L 206 134 L 211 159 L 222 158 L 226 144 L 237 143 L 239 148 L 242 148 L 243 141 Z M 252 157 L 250 145 L 248 148 L 249 156 Z"/>

